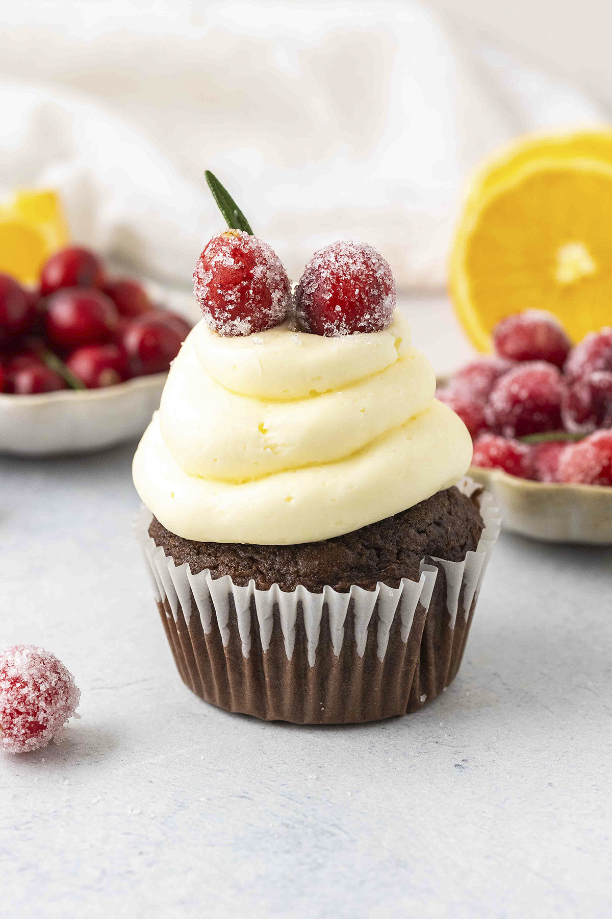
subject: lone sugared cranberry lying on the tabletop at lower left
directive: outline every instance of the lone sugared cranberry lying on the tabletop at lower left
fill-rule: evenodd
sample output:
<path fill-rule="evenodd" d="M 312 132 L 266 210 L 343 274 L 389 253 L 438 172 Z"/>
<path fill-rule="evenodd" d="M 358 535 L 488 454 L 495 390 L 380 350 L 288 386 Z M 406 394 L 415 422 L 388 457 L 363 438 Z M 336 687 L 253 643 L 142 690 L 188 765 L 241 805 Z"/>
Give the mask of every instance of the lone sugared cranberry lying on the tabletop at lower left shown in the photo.
<path fill-rule="evenodd" d="M 47 746 L 80 698 L 74 677 L 54 654 L 28 644 L 5 648 L 0 652 L 0 750 L 27 753 Z"/>

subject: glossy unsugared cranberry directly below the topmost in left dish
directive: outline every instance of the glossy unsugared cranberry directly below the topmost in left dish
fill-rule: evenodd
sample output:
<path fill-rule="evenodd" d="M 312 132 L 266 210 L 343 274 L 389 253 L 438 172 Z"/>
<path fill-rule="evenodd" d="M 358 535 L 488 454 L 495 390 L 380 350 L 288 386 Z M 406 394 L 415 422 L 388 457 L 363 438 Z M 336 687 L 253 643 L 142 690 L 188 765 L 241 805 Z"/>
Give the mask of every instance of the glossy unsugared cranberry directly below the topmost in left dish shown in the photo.
<path fill-rule="evenodd" d="M 117 307 L 102 290 L 58 290 L 47 302 L 45 328 L 53 345 L 73 348 L 107 341 L 117 320 Z"/>

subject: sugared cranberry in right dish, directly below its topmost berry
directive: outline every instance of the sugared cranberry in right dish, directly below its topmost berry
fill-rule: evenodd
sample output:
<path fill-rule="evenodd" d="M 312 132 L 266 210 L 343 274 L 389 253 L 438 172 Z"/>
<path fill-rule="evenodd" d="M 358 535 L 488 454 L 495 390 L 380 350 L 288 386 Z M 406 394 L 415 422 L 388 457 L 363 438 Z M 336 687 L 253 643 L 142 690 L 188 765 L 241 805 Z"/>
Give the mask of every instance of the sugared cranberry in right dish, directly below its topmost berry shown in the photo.
<path fill-rule="evenodd" d="M 504 437 L 555 431 L 561 427 L 563 389 L 552 364 L 519 364 L 495 383 L 484 410 L 487 424 Z"/>

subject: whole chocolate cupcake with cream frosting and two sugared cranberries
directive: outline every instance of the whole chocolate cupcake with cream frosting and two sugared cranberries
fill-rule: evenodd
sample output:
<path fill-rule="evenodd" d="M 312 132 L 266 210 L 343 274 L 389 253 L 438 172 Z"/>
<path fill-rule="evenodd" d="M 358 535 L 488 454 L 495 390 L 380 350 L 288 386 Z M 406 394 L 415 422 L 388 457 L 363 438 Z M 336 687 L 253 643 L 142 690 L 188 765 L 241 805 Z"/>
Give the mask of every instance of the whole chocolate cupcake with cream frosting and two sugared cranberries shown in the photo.
<path fill-rule="evenodd" d="M 266 720 L 420 708 L 457 673 L 498 520 L 389 266 L 328 246 L 293 301 L 270 246 L 232 230 L 195 292 L 204 318 L 133 464 L 179 674 Z"/>

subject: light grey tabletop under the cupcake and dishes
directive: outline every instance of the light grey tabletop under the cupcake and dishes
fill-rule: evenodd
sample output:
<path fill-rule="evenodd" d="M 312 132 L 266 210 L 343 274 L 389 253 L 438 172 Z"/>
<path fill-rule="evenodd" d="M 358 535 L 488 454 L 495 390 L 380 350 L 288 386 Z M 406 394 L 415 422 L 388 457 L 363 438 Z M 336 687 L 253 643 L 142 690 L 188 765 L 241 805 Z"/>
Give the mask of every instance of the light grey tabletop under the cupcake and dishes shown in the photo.
<path fill-rule="evenodd" d="M 83 691 L 0 755 L 19 919 L 612 913 L 612 551 L 503 534 L 462 669 L 403 719 L 305 728 L 181 683 L 131 535 L 134 445 L 0 458 L 0 647 Z"/>

